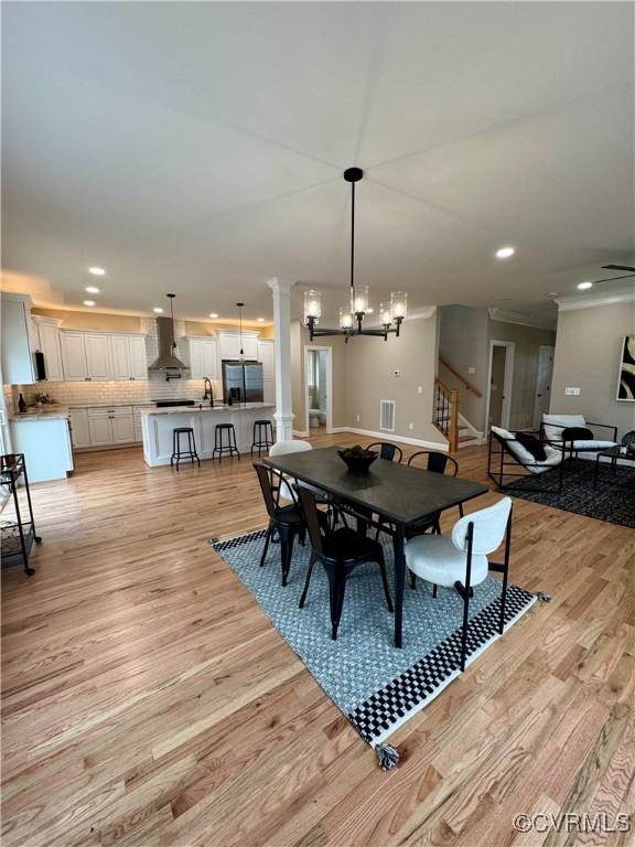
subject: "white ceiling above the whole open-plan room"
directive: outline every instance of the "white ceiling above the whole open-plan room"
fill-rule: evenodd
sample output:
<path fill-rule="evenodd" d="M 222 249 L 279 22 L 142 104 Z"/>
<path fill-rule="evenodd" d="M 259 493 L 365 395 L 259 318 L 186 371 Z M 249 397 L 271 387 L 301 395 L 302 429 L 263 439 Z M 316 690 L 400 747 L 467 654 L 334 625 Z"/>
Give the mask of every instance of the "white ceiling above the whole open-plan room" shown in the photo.
<path fill-rule="evenodd" d="M 189 317 L 238 299 L 269 317 L 278 276 L 322 288 L 334 314 L 356 164 L 375 305 L 405 289 L 412 307 L 540 309 L 634 258 L 633 14 L 4 3 L 2 265 L 68 304 L 101 265 L 99 305 L 172 290 Z"/>

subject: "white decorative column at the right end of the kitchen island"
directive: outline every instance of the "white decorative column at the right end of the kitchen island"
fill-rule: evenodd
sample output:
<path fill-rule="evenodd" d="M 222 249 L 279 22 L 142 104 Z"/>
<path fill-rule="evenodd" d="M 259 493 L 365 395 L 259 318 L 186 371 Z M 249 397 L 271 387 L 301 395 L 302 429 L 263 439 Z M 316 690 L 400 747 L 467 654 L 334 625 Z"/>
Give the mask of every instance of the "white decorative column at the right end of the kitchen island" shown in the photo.
<path fill-rule="evenodd" d="M 293 439 L 293 404 L 291 400 L 291 288 L 278 277 L 267 285 L 273 296 L 273 362 L 276 366 L 276 440 Z"/>

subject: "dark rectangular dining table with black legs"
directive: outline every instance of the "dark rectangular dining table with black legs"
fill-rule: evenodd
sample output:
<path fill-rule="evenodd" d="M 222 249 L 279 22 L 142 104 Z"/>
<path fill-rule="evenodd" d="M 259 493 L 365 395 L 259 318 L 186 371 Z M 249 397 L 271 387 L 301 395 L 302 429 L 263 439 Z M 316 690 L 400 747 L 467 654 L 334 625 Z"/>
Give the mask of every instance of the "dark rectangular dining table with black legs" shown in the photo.
<path fill-rule="evenodd" d="M 341 448 L 340 448 L 341 449 Z M 408 526 L 452 506 L 485 494 L 480 482 L 460 476 L 445 476 L 386 459 L 377 459 L 368 473 L 351 473 L 337 455 L 338 448 L 323 447 L 300 453 L 267 457 L 269 468 L 326 492 L 338 504 L 346 505 L 363 524 L 373 514 L 395 527 L 395 646 L 402 643 L 403 582 L 406 557 L 403 546 Z"/>

